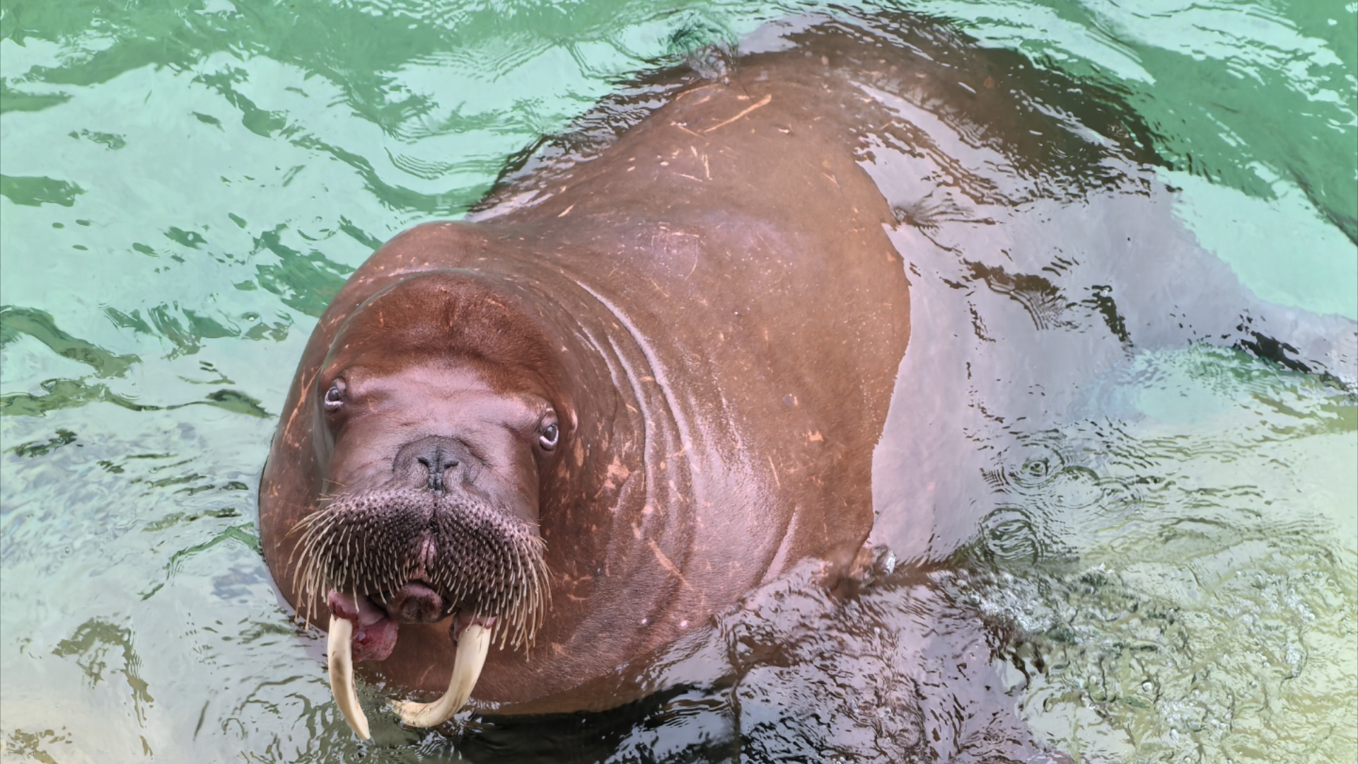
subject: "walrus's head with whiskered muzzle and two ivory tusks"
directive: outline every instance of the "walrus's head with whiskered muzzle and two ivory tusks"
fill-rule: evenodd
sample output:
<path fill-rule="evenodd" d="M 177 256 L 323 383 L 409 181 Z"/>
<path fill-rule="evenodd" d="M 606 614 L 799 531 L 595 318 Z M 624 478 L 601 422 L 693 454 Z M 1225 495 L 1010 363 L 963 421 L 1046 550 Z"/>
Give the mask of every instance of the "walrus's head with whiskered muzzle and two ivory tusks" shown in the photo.
<path fill-rule="evenodd" d="M 447 695 L 398 704 L 417 726 L 466 703 L 492 642 L 527 646 L 542 624 L 538 498 L 572 419 L 550 348 L 505 290 L 456 271 L 378 294 L 331 344 L 312 390 L 327 493 L 297 553 L 304 606 L 330 608 L 331 688 L 361 737 L 352 661 L 390 655 L 399 624 L 452 616 Z"/>

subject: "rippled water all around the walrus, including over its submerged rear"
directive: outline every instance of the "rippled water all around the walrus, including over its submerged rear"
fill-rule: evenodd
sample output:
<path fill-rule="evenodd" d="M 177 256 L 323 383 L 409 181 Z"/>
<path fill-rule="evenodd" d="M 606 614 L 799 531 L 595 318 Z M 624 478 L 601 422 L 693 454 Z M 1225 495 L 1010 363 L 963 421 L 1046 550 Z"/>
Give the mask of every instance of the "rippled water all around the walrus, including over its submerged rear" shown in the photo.
<path fill-rule="evenodd" d="M 357 742 L 255 530 L 326 302 L 686 53 L 826 24 L 989 61 L 1036 136 L 865 86 L 914 324 L 872 578 L 752 593 L 611 712 L 411 731 L 364 687 Z M 0 757 L 972 761 L 993 714 L 1081 761 L 1353 761 L 1355 72 L 1338 0 L 0 0 Z"/>

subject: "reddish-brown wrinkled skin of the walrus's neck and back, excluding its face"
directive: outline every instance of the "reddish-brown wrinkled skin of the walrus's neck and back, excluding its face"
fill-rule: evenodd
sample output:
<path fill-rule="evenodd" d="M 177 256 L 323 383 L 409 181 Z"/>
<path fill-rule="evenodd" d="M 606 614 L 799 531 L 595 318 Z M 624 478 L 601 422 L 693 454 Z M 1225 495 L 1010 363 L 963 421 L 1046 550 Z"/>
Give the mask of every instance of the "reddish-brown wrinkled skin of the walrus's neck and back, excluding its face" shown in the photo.
<path fill-rule="evenodd" d="M 263 474 L 263 549 L 288 602 L 300 605 L 288 532 L 337 491 L 319 402 L 327 355 L 354 355 L 331 348 L 337 332 L 378 321 L 360 305 L 436 269 L 463 269 L 436 279 L 452 291 L 492 284 L 505 321 L 550 340 L 546 371 L 478 368 L 497 393 L 546 397 L 562 424 L 550 458 L 521 468 L 538 480 L 524 495 L 538 498 L 550 609 L 530 653 L 492 650 L 475 700 L 615 706 L 637 692 L 608 678 L 619 666 L 794 563 L 842 575 L 872 527 L 872 453 L 910 305 L 884 234 L 895 219 L 856 163 L 864 122 L 883 117 L 838 64 L 747 58 L 536 205 L 418 226 L 373 254 L 311 336 Z M 426 310 L 399 321 L 436 332 L 440 294 L 421 291 Z M 409 368 L 382 343 L 357 352 L 369 372 Z M 395 653 L 360 669 L 441 692 L 451 666 L 444 621 L 402 625 Z"/>

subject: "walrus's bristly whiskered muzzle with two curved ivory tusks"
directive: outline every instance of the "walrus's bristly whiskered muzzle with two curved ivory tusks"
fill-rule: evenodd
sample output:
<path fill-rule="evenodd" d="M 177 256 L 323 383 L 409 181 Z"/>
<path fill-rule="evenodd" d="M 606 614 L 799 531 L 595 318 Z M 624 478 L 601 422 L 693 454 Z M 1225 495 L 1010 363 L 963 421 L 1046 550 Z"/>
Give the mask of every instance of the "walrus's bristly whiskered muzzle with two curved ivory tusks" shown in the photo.
<path fill-rule="evenodd" d="M 326 601 L 326 657 L 335 704 L 367 740 L 353 661 L 383 659 L 397 621 L 452 613 L 456 644 L 448 692 L 398 703 L 411 726 L 441 725 L 467 701 L 490 644 L 531 644 L 545 616 L 547 570 L 531 523 L 464 493 L 372 491 L 330 499 L 300 525 L 301 602 Z M 312 613 L 304 610 L 310 621 Z"/>

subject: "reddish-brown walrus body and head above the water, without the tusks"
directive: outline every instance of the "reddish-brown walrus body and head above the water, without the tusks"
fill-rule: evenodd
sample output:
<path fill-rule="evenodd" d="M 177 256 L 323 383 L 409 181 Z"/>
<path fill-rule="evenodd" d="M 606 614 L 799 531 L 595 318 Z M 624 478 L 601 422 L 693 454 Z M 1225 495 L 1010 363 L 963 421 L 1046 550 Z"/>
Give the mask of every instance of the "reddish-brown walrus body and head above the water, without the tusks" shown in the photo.
<path fill-rule="evenodd" d="M 801 560 L 843 575 L 872 527 L 873 446 L 910 334 L 896 219 L 858 164 L 885 117 L 856 69 L 751 57 L 531 204 L 373 254 L 307 345 L 263 476 L 288 602 L 311 619 L 326 590 L 331 609 L 337 593 L 382 604 L 354 617 L 401 623 L 373 666 L 425 691 L 448 687 L 449 628 L 500 613 L 519 631 L 497 639 L 521 644 L 490 651 L 474 699 L 546 712 L 627 700 L 604 677 Z M 382 541 L 391 491 L 474 495 L 490 507 L 475 517 L 536 533 L 540 606 L 496 610 L 508 585 L 439 578 L 462 564 L 429 530 L 445 504 Z M 308 518 L 341 503 L 359 530 L 316 541 Z M 368 545 L 368 568 L 402 559 L 380 582 L 342 552 L 307 568 L 325 544 Z"/>

